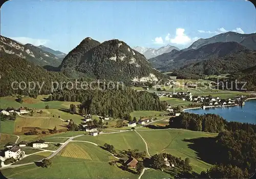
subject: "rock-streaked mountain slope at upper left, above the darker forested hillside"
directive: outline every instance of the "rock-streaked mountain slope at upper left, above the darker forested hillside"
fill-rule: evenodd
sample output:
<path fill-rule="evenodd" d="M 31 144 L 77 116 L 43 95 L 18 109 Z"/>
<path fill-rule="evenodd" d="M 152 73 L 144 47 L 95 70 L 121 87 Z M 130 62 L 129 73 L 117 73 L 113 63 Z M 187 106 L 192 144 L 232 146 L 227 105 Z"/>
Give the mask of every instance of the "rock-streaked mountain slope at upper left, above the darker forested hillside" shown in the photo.
<path fill-rule="evenodd" d="M 49 52 L 45 52 L 32 44 L 23 45 L 4 36 L 0 36 L 0 54 L 13 54 L 40 66 L 51 65 L 57 67 L 61 63 L 58 57 Z"/>

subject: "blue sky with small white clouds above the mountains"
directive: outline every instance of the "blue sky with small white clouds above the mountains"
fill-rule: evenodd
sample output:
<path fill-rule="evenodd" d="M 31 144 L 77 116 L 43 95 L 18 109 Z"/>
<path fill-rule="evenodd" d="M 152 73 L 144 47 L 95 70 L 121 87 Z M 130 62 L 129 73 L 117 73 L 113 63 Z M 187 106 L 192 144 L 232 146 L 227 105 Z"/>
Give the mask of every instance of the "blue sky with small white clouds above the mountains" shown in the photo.
<path fill-rule="evenodd" d="M 186 48 L 199 38 L 255 33 L 256 9 L 237 1 L 22 1 L 1 7 L 1 35 L 69 53 L 84 38 Z"/>

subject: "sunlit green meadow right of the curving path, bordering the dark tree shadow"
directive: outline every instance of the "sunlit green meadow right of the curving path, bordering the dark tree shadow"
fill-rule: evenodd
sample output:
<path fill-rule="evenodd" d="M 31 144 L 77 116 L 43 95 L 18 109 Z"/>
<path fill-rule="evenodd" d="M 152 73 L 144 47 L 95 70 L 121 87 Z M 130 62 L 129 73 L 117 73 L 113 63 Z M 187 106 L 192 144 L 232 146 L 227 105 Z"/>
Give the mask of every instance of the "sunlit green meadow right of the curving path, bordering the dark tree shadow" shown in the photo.
<path fill-rule="evenodd" d="M 182 159 L 189 158 L 193 170 L 201 172 L 206 170 L 211 165 L 198 159 L 196 151 L 189 148 L 189 142 L 184 139 L 194 139 L 199 137 L 215 137 L 217 134 L 201 133 L 183 130 L 160 130 L 160 131 L 138 131 L 145 139 L 148 145 L 148 150 L 151 155 L 159 152 L 167 152 Z"/>

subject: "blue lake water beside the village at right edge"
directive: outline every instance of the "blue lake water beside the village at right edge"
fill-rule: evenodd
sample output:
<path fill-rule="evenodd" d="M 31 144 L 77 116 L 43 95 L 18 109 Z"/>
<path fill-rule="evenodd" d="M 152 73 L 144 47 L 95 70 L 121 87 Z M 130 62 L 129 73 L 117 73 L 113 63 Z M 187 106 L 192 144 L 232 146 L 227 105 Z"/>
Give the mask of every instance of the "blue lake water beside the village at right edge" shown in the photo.
<path fill-rule="evenodd" d="M 245 102 L 242 107 L 223 107 L 223 108 L 206 108 L 190 109 L 184 112 L 195 114 L 219 114 L 227 121 L 248 122 L 256 124 L 256 100 L 251 99 Z"/>

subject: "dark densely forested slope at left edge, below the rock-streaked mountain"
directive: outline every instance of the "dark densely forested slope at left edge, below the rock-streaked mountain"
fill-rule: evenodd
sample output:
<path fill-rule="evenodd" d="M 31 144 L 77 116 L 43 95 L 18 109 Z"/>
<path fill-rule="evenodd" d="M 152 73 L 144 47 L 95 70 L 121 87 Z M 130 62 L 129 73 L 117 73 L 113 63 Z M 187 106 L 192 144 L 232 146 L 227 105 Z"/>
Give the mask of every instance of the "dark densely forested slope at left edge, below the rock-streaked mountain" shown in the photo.
<path fill-rule="evenodd" d="M 35 82 L 42 84 L 41 94 L 51 93 L 51 82 L 66 81 L 65 75 L 59 72 L 49 72 L 44 68 L 29 62 L 26 59 L 17 57 L 16 55 L 2 55 L 0 56 L 0 96 L 8 96 L 14 94 L 30 95 L 35 97 L 39 94 L 38 86 L 29 94 L 28 88 L 25 90 L 14 90 L 11 88 L 12 82 L 24 81 L 27 85 L 28 82 Z M 16 84 L 15 84 L 16 85 Z M 14 86 L 15 88 L 17 86 Z M 24 86 L 22 86 L 24 87 Z M 32 86 L 31 86 L 32 87 Z"/>

